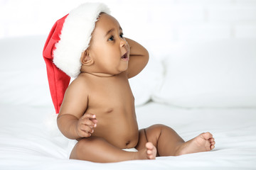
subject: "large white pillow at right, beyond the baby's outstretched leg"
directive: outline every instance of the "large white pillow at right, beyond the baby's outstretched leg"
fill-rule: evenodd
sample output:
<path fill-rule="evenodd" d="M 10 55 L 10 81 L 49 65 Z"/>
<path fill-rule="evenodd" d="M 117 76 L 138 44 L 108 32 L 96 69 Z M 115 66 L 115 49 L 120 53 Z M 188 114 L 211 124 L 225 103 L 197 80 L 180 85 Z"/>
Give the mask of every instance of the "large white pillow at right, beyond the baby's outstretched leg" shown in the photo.
<path fill-rule="evenodd" d="M 187 108 L 256 107 L 256 40 L 181 44 L 164 60 L 154 101 Z"/>

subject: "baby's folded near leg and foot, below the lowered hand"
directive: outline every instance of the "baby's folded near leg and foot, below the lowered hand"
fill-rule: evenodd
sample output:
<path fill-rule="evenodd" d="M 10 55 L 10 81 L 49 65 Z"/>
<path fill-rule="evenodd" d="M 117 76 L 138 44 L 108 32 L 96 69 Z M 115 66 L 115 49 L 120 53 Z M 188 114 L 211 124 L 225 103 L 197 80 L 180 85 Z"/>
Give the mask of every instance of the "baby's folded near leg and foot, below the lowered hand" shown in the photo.
<path fill-rule="evenodd" d="M 144 148 L 139 152 L 126 152 L 110 145 L 109 142 L 100 137 L 89 137 L 79 140 L 70 154 L 70 159 L 90 162 L 122 162 L 132 159 L 155 158 L 156 148 L 151 142 L 145 143 Z"/>

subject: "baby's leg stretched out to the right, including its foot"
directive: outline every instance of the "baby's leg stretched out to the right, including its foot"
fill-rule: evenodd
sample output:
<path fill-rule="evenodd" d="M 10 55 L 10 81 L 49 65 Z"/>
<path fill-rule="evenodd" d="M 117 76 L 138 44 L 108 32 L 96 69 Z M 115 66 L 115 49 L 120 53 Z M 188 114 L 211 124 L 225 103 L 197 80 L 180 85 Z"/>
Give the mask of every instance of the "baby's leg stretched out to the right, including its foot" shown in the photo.
<path fill-rule="evenodd" d="M 152 142 L 157 149 L 157 156 L 176 156 L 195 152 L 205 152 L 214 148 L 213 136 L 207 132 L 184 142 L 184 140 L 171 128 L 165 125 L 152 125 L 139 131 L 139 144 L 137 149 L 143 147 L 145 142 Z"/>

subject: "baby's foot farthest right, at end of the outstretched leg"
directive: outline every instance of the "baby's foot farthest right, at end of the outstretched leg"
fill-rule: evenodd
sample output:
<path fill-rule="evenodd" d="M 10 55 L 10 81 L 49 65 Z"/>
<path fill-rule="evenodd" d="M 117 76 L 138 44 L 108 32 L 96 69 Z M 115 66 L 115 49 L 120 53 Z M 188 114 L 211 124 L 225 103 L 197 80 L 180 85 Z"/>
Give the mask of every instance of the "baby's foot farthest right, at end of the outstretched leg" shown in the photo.
<path fill-rule="evenodd" d="M 215 147 L 214 145 L 213 135 L 210 132 L 205 132 L 183 143 L 178 147 L 176 155 L 210 151 Z"/>

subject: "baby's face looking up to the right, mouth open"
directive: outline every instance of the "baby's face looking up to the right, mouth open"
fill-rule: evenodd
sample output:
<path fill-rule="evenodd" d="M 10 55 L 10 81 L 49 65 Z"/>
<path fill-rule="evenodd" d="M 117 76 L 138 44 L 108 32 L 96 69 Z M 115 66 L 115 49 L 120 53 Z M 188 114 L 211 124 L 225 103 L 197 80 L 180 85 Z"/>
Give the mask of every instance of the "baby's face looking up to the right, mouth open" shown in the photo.
<path fill-rule="evenodd" d="M 129 45 L 118 21 L 106 13 L 96 22 L 88 50 L 102 73 L 119 74 L 128 68 Z"/>

